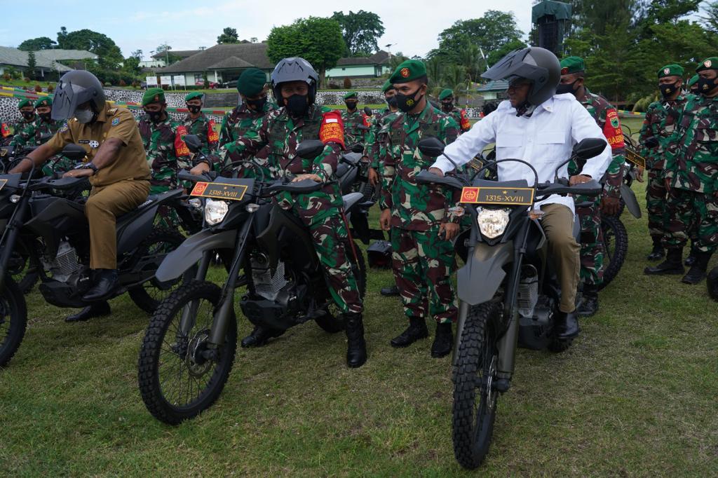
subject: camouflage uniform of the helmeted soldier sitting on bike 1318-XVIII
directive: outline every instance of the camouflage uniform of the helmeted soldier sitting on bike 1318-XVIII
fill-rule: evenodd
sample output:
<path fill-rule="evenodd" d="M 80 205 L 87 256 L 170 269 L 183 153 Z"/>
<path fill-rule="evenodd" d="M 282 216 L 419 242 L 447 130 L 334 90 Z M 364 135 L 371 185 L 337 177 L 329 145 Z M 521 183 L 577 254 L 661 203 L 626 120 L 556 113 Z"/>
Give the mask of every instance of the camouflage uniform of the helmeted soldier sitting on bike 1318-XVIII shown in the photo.
<path fill-rule="evenodd" d="M 328 109 L 310 106 L 304 118 L 292 119 L 281 108 L 259 118 L 256 130 L 250 130 L 234 143 L 220 148 L 220 157 L 229 163 L 254 156 L 271 177 L 284 177 L 284 170 L 294 158 L 297 145 L 304 140 L 320 139 L 320 127 Z M 297 215 L 309 228 L 314 248 L 324 266 L 327 284 L 342 313 L 362 311 L 356 278 L 354 277 L 346 244 L 350 242 L 342 212 L 342 196 L 335 172 L 342 145 L 327 142 L 322 154 L 313 161 L 297 159 L 292 174 L 317 174 L 325 186 L 318 192 L 290 195 L 281 192 L 274 197 L 279 207 Z"/>

